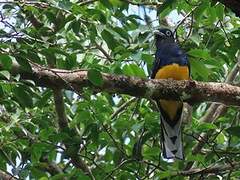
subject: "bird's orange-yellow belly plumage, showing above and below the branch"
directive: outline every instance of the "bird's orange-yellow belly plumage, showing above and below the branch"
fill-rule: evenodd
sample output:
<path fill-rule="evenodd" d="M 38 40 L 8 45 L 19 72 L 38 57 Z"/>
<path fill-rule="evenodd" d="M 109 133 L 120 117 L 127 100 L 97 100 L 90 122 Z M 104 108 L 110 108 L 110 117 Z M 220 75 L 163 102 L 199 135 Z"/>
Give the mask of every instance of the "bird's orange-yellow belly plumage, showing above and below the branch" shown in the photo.
<path fill-rule="evenodd" d="M 178 64 L 171 64 L 162 67 L 155 75 L 155 79 L 175 79 L 175 80 L 188 80 L 189 69 L 187 66 L 179 66 Z M 160 105 L 163 110 L 168 114 L 171 120 L 174 120 L 177 110 L 182 106 L 179 101 L 160 100 Z"/>

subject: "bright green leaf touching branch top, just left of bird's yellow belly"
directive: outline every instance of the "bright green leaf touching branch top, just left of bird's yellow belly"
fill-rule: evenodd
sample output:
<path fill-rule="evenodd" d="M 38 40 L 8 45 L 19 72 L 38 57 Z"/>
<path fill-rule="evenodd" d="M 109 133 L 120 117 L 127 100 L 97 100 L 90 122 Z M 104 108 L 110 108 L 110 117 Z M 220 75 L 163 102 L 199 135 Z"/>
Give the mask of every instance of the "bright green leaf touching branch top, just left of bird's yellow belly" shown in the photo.
<path fill-rule="evenodd" d="M 123 66 L 123 73 L 128 76 L 137 76 L 145 78 L 146 75 L 143 69 L 139 68 L 136 64 L 126 64 Z"/>

